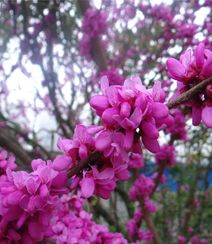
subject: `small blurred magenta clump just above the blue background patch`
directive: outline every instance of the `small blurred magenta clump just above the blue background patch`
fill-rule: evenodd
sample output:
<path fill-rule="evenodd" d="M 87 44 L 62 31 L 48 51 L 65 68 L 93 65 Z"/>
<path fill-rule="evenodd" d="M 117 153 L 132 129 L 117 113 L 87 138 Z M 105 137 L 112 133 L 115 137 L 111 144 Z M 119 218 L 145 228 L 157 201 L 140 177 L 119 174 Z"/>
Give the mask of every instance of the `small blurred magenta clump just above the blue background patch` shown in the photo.
<path fill-rule="evenodd" d="M 167 167 L 173 167 L 174 163 L 176 163 L 174 153 L 174 145 L 170 146 L 168 144 L 164 144 L 161 147 L 161 150 L 155 154 L 156 164 L 160 165 L 165 163 Z"/>

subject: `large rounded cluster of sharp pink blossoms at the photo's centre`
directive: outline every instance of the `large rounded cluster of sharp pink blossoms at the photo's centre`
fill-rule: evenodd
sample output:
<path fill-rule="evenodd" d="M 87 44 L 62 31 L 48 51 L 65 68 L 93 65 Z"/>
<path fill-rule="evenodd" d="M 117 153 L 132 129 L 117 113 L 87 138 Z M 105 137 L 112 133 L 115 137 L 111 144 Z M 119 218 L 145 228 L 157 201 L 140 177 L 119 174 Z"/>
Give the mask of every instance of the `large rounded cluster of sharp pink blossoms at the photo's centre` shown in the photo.
<path fill-rule="evenodd" d="M 141 154 L 141 139 L 150 152 L 158 152 L 158 131 L 173 123 L 163 104 L 165 94 L 161 83 L 156 81 L 152 89 L 146 89 L 139 77 L 133 77 L 126 79 L 123 86 L 109 86 L 107 77 L 103 76 L 101 89 L 103 95 L 90 100 L 104 126 L 97 135 L 96 148 L 104 155 L 114 150 Z M 117 137 L 119 141 L 115 141 Z"/>

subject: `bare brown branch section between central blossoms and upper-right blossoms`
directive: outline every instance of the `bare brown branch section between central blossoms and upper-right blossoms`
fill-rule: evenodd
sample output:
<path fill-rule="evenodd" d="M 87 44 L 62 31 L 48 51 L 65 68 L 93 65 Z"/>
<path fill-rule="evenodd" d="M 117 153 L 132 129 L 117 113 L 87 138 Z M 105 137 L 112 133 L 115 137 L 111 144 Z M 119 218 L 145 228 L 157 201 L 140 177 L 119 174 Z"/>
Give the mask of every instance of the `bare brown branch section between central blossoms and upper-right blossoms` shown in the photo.
<path fill-rule="evenodd" d="M 185 103 L 185 102 L 191 100 L 191 98 L 193 98 L 199 91 L 204 89 L 210 83 L 212 83 L 212 77 L 209 77 L 209 78 L 205 79 L 204 81 L 200 82 L 198 85 L 192 87 L 190 90 L 182 93 L 176 99 L 174 99 L 171 102 L 167 103 L 166 106 L 169 109 L 172 109 L 172 108 L 174 108 L 174 107 L 176 107 L 176 106 L 178 106 L 178 105 L 180 105 L 182 103 Z"/>

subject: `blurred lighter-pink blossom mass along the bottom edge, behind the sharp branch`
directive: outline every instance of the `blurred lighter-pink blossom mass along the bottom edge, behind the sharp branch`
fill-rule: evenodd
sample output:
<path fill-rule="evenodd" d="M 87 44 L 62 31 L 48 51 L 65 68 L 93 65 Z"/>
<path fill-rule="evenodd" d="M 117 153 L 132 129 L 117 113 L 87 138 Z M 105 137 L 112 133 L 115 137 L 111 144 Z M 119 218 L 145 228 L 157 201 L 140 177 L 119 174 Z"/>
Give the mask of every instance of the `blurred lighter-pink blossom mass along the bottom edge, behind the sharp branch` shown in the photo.
<path fill-rule="evenodd" d="M 49 234 L 56 239 L 56 244 L 128 244 L 121 233 L 109 233 L 104 225 L 96 224 L 82 208 L 84 200 L 71 194 L 61 197 L 62 206 L 54 217 Z"/>

